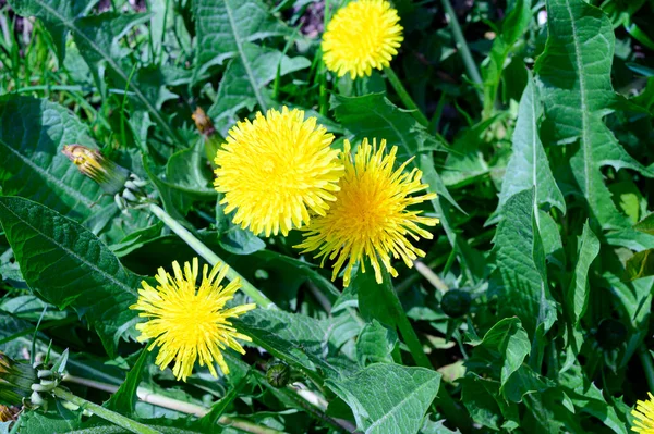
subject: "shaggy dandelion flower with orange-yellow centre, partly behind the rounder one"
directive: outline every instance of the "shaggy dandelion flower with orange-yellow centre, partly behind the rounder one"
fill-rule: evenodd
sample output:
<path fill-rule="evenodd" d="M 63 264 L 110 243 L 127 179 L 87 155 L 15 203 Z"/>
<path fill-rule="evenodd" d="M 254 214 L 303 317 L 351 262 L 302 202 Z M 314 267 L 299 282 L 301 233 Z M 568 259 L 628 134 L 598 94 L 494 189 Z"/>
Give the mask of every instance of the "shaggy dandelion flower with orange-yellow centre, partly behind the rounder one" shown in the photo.
<path fill-rule="evenodd" d="M 334 264 L 335 280 L 346 266 L 343 284 L 350 284 L 352 268 L 367 257 L 375 270 L 375 278 L 383 282 L 379 262 L 395 277 L 397 271 L 390 264 L 390 256 L 402 258 L 408 266 L 413 265 L 417 257 L 425 252 L 414 247 L 408 236 L 414 240 L 420 237 L 431 239 L 433 235 L 419 225 L 434 226 L 438 219 L 421 216 L 421 211 L 409 211 L 409 206 L 421 203 L 436 197 L 435 194 L 411 196 L 422 191 L 427 185 L 421 183 L 422 172 L 404 169 L 411 160 L 393 171 L 398 148 L 392 147 L 386 154 L 386 140 L 382 146 L 367 139 L 352 157 L 351 146 L 346 140 L 341 161 L 346 173 L 340 179 L 340 190 L 327 215 L 315 218 L 305 230 L 305 239 L 296 246 L 303 252 L 317 250 L 316 258 L 330 260 L 338 257 Z M 365 272 L 365 269 L 363 269 Z"/>

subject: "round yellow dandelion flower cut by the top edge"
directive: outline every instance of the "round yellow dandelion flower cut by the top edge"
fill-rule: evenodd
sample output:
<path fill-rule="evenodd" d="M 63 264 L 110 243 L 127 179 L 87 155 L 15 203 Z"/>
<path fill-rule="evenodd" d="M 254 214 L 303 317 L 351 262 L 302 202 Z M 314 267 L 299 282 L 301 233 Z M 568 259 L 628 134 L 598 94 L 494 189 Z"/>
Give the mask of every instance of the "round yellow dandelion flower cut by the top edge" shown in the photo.
<path fill-rule="evenodd" d="M 323 61 L 342 77 L 370 76 L 390 65 L 404 39 L 398 11 L 386 0 L 359 0 L 339 9 L 323 35 Z"/>

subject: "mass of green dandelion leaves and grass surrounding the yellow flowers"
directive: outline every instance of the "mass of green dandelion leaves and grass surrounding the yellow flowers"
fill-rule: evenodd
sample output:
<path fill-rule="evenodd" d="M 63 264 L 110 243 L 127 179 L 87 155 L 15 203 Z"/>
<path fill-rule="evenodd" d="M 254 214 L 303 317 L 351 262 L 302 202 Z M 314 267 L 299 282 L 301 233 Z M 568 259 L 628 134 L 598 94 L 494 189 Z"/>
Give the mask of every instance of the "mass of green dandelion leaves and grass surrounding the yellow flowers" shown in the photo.
<path fill-rule="evenodd" d="M 124 432 L 102 410 L 160 433 L 630 432 L 654 393 L 650 2 L 396 0 L 392 71 L 355 80 L 322 60 L 342 3 L 0 1 L 0 351 L 68 357 L 61 386 L 100 406 L 49 397 L 0 433 Z M 284 106 L 335 149 L 411 159 L 437 194 L 411 207 L 439 219 L 409 239 L 424 257 L 343 288 L 302 231 L 225 214 L 216 150 Z M 134 184 L 102 195 L 73 144 Z M 229 320 L 252 340 L 222 350 L 228 375 L 177 382 L 130 306 L 159 268 L 216 256 L 276 308 Z"/>

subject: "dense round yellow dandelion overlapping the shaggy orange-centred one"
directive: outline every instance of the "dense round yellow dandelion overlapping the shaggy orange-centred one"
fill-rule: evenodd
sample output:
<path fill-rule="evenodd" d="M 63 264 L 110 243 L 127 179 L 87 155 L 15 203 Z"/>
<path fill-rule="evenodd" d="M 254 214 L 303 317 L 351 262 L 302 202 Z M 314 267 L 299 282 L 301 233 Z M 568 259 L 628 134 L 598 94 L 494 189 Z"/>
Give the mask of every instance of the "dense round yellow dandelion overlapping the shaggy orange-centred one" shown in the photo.
<path fill-rule="evenodd" d="M 215 160 L 225 213 L 237 210 L 235 224 L 266 236 L 308 223 L 310 210 L 325 215 L 343 170 L 332 140 L 315 117 L 286 107 L 239 122 Z"/>

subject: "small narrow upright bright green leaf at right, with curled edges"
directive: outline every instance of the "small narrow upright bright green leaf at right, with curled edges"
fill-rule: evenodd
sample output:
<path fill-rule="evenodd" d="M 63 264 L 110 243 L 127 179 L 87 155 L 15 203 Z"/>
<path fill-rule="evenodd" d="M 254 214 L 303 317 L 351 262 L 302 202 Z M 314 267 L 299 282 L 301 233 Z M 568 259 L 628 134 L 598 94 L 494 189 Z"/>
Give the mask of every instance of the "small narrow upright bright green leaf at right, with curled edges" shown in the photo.
<path fill-rule="evenodd" d="M 570 288 L 566 294 L 566 308 L 569 309 L 570 319 L 574 326 L 585 312 L 589 301 L 589 270 L 600 253 L 600 240 L 586 222 L 583 225 L 579 243 L 579 257 L 574 266 L 574 276 L 570 282 Z"/>

